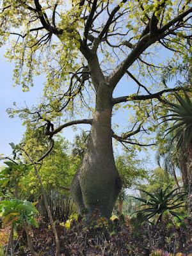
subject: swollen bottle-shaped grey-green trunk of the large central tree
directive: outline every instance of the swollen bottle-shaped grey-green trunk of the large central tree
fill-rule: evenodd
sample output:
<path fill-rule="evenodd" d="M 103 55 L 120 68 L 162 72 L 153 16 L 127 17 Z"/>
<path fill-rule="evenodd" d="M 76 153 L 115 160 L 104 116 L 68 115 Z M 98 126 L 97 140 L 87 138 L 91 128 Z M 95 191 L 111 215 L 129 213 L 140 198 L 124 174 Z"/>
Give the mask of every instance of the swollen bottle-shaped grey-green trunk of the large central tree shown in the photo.
<path fill-rule="evenodd" d="M 122 186 L 113 157 L 111 95 L 107 84 L 97 90 L 96 111 L 88 148 L 71 187 L 79 211 L 82 212 L 85 208 L 89 216 L 94 209 L 99 209 L 102 216 L 111 216 Z"/>

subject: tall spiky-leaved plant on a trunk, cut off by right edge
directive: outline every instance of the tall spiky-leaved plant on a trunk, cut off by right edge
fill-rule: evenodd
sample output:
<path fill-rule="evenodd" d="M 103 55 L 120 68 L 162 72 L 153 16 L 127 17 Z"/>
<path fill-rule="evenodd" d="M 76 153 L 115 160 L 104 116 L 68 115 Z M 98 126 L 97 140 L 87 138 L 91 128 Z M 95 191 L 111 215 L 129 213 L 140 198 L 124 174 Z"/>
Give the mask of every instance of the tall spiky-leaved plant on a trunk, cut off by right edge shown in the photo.
<path fill-rule="evenodd" d="M 173 121 L 173 126 L 166 130 L 166 134 L 175 133 L 172 140 L 177 140 L 177 152 L 182 155 L 179 168 L 184 186 L 188 189 L 188 212 L 192 216 L 192 101 L 186 92 L 184 97 L 178 93 L 175 97 L 179 104 L 167 102 L 171 114 L 166 116 L 166 121 Z"/>

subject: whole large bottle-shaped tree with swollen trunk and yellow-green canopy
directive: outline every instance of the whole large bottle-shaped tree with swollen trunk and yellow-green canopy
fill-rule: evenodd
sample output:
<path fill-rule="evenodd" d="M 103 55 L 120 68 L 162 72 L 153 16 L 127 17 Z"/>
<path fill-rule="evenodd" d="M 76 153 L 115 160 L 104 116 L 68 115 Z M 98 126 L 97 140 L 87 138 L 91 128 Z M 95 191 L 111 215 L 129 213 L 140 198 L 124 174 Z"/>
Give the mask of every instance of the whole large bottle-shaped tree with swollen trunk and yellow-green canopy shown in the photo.
<path fill-rule="evenodd" d="M 91 125 L 83 163 L 71 186 L 79 211 L 85 207 L 92 214 L 98 208 L 103 216 L 111 214 L 122 188 L 112 138 L 123 144 L 151 144 L 138 141 L 136 134 L 151 131 L 147 118 L 157 115 L 164 95 L 180 88 L 162 83 L 156 88 L 149 78 L 145 86 L 131 68 L 158 80 L 157 70 L 168 64 L 174 68 L 181 58 L 186 61 L 191 12 L 189 1 L 3 1 L 1 44 L 16 36 L 6 53 L 15 61 L 15 83 L 28 90 L 40 72 L 47 81 L 39 106 L 10 109 L 10 116 L 19 114 L 33 129 L 46 127 L 45 134 L 51 137 L 70 125 Z M 150 53 L 152 45 L 175 56 L 159 65 Z M 113 98 L 125 74 L 136 84 L 136 93 Z M 131 131 L 118 136 L 111 130 L 111 116 L 124 102 L 129 102 L 127 108 L 134 109 L 136 118 Z M 74 119 L 83 114 L 83 119 Z"/>

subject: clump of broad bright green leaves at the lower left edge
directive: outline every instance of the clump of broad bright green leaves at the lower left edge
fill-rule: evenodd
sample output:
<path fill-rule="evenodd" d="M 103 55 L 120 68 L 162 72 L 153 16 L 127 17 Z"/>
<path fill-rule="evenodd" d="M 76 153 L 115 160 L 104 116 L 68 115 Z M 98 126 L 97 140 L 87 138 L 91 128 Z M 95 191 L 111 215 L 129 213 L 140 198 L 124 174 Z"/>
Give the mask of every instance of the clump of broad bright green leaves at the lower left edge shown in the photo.
<path fill-rule="evenodd" d="M 38 211 L 35 205 L 28 201 L 18 199 L 3 200 L 0 202 L 1 218 L 3 218 L 3 225 L 29 225 L 38 227 L 35 216 Z"/>

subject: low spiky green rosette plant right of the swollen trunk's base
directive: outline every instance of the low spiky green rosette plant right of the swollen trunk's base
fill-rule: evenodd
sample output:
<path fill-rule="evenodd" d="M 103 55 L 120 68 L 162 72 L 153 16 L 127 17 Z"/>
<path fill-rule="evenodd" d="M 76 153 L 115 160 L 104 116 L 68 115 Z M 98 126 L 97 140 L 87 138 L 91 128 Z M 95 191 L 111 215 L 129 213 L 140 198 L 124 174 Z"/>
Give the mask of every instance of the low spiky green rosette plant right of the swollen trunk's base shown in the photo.
<path fill-rule="evenodd" d="M 148 221 L 154 218 L 156 219 L 156 224 L 162 220 L 164 212 L 167 211 L 180 220 L 180 216 L 182 216 L 182 214 L 177 211 L 175 212 L 175 210 L 185 206 L 185 201 L 182 200 L 182 198 L 184 197 L 184 195 L 186 195 L 186 192 L 178 191 L 180 188 L 175 188 L 172 191 L 168 191 L 169 188 L 170 187 L 168 186 L 164 190 L 160 189 L 157 193 L 154 194 L 149 193 L 148 191 L 145 191 L 143 189 L 138 189 L 149 198 L 145 199 L 132 196 L 132 198 L 135 198 L 143 203 L 140 205 L 140 207 L 147 206 L 147 208 L 138 210 L 134 213 L 143 213 L 145 219 Z"/>

